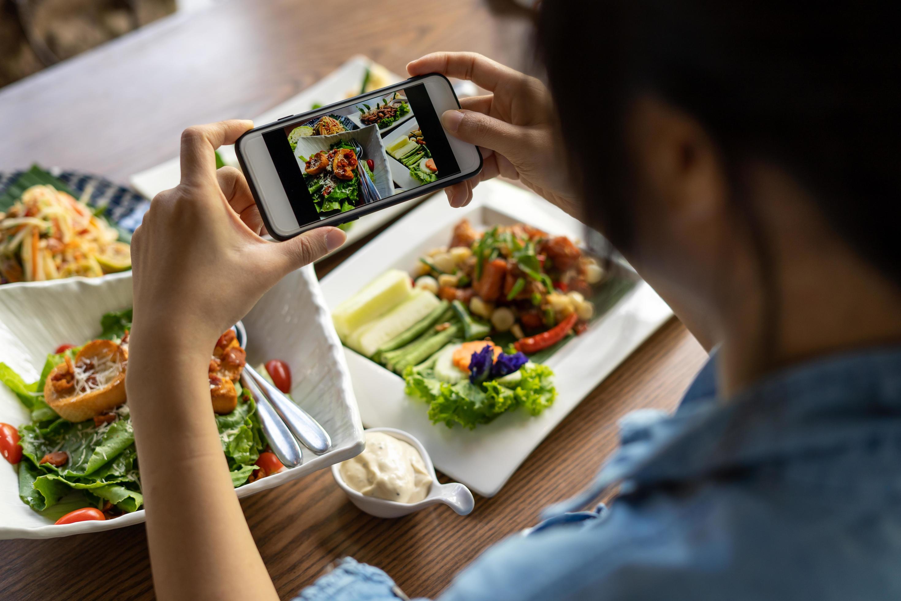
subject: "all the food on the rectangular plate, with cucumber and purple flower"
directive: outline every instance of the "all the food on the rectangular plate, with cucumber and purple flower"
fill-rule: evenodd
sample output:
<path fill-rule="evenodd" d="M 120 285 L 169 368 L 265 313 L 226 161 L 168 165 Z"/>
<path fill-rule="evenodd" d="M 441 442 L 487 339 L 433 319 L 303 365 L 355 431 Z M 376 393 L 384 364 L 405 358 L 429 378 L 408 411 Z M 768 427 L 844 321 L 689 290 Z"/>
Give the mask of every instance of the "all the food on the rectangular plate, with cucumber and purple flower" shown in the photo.
<path fill-rule="evenodd" d="M 332 319 L 346 346 L 405 379 L 432 423 L 472 429 L 521 407 L 541 414 L 557 395 L 543 362 L 632 287 L 566 236 L 464 219 L 412 274 L 388 270 Z"/>

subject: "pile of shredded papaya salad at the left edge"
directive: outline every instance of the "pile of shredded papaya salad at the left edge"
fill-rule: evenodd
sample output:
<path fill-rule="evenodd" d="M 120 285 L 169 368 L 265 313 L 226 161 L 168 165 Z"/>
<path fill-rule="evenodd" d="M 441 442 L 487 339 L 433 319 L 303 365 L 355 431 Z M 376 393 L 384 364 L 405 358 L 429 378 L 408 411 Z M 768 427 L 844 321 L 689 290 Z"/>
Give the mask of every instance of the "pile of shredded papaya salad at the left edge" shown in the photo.
<path fill-rule="evenodd" d="M 0 284 L 96 278 L 131 268 L 129 245 L 86 201 L 32 186 L 0 213 Z"/>

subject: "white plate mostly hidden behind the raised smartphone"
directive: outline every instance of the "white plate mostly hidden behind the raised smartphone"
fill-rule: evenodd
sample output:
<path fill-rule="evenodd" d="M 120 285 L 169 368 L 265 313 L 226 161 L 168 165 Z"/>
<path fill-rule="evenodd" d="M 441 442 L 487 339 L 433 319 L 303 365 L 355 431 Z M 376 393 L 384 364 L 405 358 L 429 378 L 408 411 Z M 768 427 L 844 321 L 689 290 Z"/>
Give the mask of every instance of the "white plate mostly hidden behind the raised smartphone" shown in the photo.
<path fill-rule="evenodd" d="M 313 86 L 306 88 L 297 96 L 293 96 L 286 102 L 268 110 L 266 113 L 260 114 L 253 121 L 257 125 L 263 125 L 277 121 L 280 117 L 288 114 L 299 114 L 309 111 L 314 104 L 330 105 L 344 98 L 355 96 L 359 93 L 359 84 L 363 80 L 363 74 L 366 69 L 374 65 L 371 59 L 364 56 L 355 56 L 345 62 L 341 67 L 332 71 L 326 77 L 316 82 Z M 403 79 L 394 73 L 388 74 L 391 81 L 396 83 Z M 219 149 L 226 165 L 238 167 L 238 158 L 234 154 L 233 146 L 223 146 Z M 178 158 L 169 159 L 165 163 L 161 163 L 156 167 L 152 167 L 134 174 L 131 178 L 132 187 L 147 198 L 157 196 L 163 190 L 178 185 L 181 178 L 181 170 L 179 168 Z M 149 205 L 149 203 L 148 203 Z M 410 203 L 401 203 L 400 205 L 389 206 L 373 214 L 360 217 L 350 227 L 347 232 L 347 241 L 344 246 L 348 246 L 355 241 L 365 237 L 369 232 L 377 230 L 379 227 L 388 223 L 400 214 L 404 214 L 413 205 Z M 144 211 L 147 210 L 145 206 Z M 138 212 L 139 214 L 143 214 Z M 139 215 L 140 223 L 140 215 Z M 324 259 L 324 257 L 323 257 Z"/>

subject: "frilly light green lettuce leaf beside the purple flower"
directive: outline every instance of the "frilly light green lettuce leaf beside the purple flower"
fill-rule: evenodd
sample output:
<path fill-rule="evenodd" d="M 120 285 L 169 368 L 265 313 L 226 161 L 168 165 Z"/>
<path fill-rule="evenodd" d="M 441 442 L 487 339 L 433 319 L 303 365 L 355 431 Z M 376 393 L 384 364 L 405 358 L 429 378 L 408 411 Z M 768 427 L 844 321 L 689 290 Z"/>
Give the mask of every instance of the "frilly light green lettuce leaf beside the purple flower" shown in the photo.
<path fill-rule="evenodd" d="M 541 414 L 557 397 L 552 378 L 553 372 L 546 365 L 523 367 L 522 378 L 513 388 L 496 380 L 474 384 L 466 379 L 451 385 L 435 378 L 427 363 L 404 371 L 406 394 L 429 404 L 432 423 L 444 423 L 449 428 L 459 423 L 470 430 L 520 407 L 532 415 Z"/>

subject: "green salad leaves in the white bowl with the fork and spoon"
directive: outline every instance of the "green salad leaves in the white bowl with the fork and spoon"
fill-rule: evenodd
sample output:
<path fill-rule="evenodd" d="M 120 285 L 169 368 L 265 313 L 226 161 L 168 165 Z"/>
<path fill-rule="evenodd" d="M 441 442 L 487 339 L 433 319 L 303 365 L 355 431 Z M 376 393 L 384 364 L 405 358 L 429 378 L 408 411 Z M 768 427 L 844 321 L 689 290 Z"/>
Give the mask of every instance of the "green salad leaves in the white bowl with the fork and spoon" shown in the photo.
<path fill-rule="evenodd" d="M 127 348 L 131 321 L 131 309 L 105 314 L 101 320 L 103 332 L 97 340 L 114 341 Z M 48 512 L 51 517 L 91 506 L 105 514 L 131 513 L 141 508 L 143 496 L 128 405 L 73 423 L 60 417 L 44 399 L 51 371 L 67 358 L 73 360 L 81 348 L 60 347 L 62 352 L 48 355 L 41 378 L 32 383 L 25 383 L 13 369 L 0 363 L 0 382 L 31 414 L 31 422 L 18 429 L 22 447 L 19 496 L 32 509 Z M 232 484 L 240 487 L 256 469 L 254 463 L 266 445 L 253 397 L 237 382 L 235 387 L 239 395 L 236 408 L 216 415 L 215 420 Z"/>

